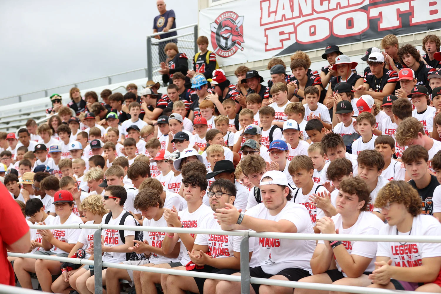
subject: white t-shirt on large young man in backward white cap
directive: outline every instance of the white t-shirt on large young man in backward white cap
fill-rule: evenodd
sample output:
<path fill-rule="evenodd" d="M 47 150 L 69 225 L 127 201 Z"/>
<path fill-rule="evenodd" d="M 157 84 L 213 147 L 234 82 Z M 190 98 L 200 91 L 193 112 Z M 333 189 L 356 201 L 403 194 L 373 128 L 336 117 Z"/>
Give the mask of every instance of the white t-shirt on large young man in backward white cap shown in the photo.
<path fill-rule="evenodd" d="M 245 212 L 246 215 L 263 220 L 288 220 L 295 224 L 297 233 L 314 234 L 308 212 L 303 205 L 287 202 L 275 216 L 263 203 Z M 275 275 L 285 268 L 301 268 L 311 272 L 310 261 L 315 249 L 312 240 L 288 240 L 283 238 L 259 238 L 259 262 L 262 270 Z"/>

